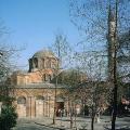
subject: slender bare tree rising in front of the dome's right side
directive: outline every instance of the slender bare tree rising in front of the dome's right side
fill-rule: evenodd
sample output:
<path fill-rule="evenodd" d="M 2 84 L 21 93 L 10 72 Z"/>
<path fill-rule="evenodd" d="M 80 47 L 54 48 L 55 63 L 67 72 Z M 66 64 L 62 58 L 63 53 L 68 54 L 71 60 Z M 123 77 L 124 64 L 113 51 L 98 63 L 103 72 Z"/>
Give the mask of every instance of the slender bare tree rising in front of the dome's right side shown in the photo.
<path fill-rule="evenodd" d="M 68 57 L 68 53 L 70 51 L 69 44 L 67 42 L 67 39 L 64 35 L 57 34 L 55 36 L 55 42 L 52 44 L 52 50 L 55 52 L 58 63 L 55 67 L 55 98 L 54 98 L 54 115 L 53 115 L 53 123 L 55 123 L 55 117 L 56 117 L 56 98 L 57 98 L 57 84 L 58 84 L 58 75 L 61 73 L 61 64 L 63 61 L 66 61 L 65 58 Z"/>

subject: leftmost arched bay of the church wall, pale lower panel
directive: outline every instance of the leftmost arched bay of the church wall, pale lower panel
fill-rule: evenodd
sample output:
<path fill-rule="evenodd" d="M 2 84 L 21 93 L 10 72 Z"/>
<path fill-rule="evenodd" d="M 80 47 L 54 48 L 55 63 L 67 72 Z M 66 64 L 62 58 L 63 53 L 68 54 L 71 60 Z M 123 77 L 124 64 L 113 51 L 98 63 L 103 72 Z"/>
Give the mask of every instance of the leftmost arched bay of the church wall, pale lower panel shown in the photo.
<path fill-rule="evenodd" d="M 18 117 L 26 117 L 26 98 L 17 98 L 17 114 Z"/>

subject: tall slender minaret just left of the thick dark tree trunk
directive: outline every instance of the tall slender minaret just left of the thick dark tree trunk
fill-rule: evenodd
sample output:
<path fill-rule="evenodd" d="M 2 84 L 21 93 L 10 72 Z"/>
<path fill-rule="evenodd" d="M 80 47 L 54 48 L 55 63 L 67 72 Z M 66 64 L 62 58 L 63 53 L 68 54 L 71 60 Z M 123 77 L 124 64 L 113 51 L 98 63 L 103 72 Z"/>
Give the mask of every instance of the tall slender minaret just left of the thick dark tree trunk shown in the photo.
<path fill-rule="evenodd" d="M 110 5 L 108 9 L 108 36 L 107 36 L 107 53 L 108 53 L 108 80 L 114 80 L 114 42 L 115 42 L 115 13 L 112 11 Z"/>

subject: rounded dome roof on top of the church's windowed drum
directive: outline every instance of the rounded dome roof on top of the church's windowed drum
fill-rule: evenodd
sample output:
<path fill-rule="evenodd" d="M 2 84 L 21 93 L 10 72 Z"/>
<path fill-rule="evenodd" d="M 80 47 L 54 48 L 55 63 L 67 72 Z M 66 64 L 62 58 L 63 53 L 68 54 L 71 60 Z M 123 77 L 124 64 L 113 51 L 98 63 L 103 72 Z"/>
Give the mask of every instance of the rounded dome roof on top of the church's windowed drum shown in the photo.
<path fill-rule="evenodd" d="M 54 53 L 50 50 L 41 50 L 34 54 L 32 57 L 55 57 Z"/>

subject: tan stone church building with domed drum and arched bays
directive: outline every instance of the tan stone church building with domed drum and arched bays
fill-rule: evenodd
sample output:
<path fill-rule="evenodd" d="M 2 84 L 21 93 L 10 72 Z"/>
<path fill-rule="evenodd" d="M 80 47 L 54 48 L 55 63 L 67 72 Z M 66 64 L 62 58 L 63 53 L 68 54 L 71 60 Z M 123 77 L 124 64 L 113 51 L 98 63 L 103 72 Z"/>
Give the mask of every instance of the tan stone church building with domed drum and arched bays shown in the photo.
<path fill-rule="evenodd" d="M 16 98 L 15 106 L 18 117 L 53 117 L 55 83 L 51 83 L 60 61 L 51 51 L 39 51 L 29 58 L 27 73 L 15 72 L 11 76 L 14 87 L 13 95 Z M 67 87 L 56 87 L 56 113 L 66 109 L 68 101 L 64 99 Z"/>

